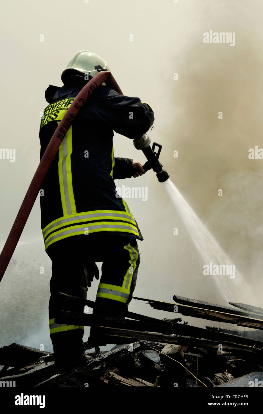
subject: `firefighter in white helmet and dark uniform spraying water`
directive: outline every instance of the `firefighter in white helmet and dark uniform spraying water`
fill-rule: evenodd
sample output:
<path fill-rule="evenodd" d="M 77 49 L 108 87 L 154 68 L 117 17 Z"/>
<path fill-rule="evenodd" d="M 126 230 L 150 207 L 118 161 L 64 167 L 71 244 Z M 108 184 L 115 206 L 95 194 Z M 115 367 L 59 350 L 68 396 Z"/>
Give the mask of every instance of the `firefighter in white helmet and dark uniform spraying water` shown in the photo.
<path fill-rule="evenodd" d="M 46 89 L 41 158 L 67 108 L 100 70 L 110 71 L 102 58 L 80 51 L 61 75 L 64 86 Z M 138 177 L 144 170 L 133 159 L 115 157 L 112 139 L 113 131 L 137 139 L 152 124 L 151 106 L 103 84 L 67 131 L 43 183 L 41 227 L 52 260 L 49 327 L 57 365 L 75 366 L 85 360 L 84 326 L 54 322 L 60 310 L 83 312 L 83 306 L 63 302 L 58 292 L 86 299 L 93 277 L 99 278 L 96 262 L 103 262 L 96 302 L 127 310 L 131 301 L 140 263 L 136 239 L 143 237 L 127 203 L 117 195 L 114 180 Z M 91 347 L 107 343 L 98 329 L 91 328 Z"/>

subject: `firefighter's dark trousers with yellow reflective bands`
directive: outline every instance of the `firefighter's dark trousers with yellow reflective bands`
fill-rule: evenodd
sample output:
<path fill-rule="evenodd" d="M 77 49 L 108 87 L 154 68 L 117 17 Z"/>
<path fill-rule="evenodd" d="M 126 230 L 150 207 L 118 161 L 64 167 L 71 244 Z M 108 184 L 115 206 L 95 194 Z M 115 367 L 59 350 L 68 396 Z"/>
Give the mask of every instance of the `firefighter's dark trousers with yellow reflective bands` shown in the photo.
<path fill-rule="evenodd" d="M 63 301 L 58 292 L 86 299 L 91 276 L 86 266 L 88 263 L 102 262 L 96 302 L 127 310 L 140 263 L 137 241 L 128 236 L 103 239 L 80 235 L 53 243 L 46 252 L 52 260 L 49 327 L 54 354 L 56 359 L 78 360 L 85 354 L 84 326 L 57 324 L 54 320 L 61 310 L 82 313 L 84 307 Z"/>

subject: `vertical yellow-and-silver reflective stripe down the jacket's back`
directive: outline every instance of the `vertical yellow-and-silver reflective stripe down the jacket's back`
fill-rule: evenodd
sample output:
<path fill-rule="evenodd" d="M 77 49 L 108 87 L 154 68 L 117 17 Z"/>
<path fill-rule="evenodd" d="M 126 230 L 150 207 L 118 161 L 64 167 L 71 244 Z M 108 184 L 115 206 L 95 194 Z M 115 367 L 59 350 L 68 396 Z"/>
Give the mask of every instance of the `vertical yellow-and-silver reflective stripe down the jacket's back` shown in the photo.
<path fill-rule="evenodd" d="M 59 147 L 58 177 L 60 183 L 60 197 L 63 214 L 75 214 L 77 212 L 71 171 L 71 154 L 72 154 L 72 126 L 70 126 L 65 138 Z"/>

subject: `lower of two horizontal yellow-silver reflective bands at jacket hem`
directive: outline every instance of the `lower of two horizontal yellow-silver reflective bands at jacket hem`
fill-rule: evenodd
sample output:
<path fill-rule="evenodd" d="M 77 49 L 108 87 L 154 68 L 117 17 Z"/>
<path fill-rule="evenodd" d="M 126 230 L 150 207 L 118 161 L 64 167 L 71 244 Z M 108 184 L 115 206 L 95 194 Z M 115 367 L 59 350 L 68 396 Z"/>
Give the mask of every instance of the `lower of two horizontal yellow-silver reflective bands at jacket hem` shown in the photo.
<path fill-rule="evenodd" d="M 62 240 L 70 236 L 77 236 L 79 234 L 90 234 L 99 231 L 120 231 L 124 233 L 131 233 L 139 236 L 137 227 L 129 223 L 121 221 L 98 221 L 96 223 L 87 223 L 79 226 L 65 227 L 64 229 L 51 233 L 45 240 L 45 248 L 55 241 Z"/>

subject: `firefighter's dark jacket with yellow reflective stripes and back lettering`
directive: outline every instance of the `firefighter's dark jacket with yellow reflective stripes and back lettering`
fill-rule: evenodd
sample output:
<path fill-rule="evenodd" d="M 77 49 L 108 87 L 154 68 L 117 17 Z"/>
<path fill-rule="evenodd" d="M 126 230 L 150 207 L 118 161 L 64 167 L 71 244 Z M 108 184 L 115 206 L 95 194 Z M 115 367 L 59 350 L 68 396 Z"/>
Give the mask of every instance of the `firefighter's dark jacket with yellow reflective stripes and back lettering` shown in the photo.
<path fill-rule="evenodd" d="M 45 91 L 49 105 L 41 117 L 42 158 L 67 108 L 85 83 Z M 67 237 L 110 234 L 143 240 L 128 205 L 116 197 L 115 178 L 131 177 L 132 159 L 116 158 L 113 131 L 140 138 L 153 123 L 153 111 L 139 98 L 100 86 L 73 121 L 41 188 L 41 227 L 45 249 Z"/>

